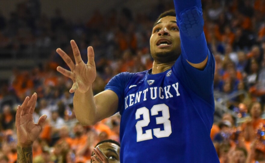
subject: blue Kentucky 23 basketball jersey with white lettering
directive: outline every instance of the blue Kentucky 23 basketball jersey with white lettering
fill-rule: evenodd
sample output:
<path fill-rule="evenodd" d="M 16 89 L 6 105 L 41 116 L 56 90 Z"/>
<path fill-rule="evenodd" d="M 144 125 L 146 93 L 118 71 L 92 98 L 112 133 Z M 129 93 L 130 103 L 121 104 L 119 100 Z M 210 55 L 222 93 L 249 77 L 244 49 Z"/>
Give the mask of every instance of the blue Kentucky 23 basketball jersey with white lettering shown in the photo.
<path fill-rule="evenodd" d="M 180 55 L 171 69 L 123 72 L 105 90 L 119 98 L 122 163 L 217 163 L 210 139 L 214 118 L 214 57 L 204 70 Z"/>

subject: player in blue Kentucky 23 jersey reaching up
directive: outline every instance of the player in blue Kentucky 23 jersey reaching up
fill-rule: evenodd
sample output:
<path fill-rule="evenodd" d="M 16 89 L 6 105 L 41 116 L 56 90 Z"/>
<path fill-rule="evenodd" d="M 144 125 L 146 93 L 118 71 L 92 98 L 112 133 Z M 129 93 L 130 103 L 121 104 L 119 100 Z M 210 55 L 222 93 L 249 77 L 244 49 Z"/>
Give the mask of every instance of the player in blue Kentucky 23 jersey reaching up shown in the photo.
<path fill-rule="evenodd" d="M 174 0 L 174 5 L 176 14 L 167 11 L 154 23 L 152 69 L 120 73 L 95 96 L 93 48 L 88 47 L 87 64 L 73 40 L 76 64 L 57 49 L 71 69 L 57 68 L 73 80 L 70 92 L 80 123 L 93 125 L 120 112 L 120 162 L 219 162 L 210 139 L 215 63 L 203 32 L 201 1 Z"/>

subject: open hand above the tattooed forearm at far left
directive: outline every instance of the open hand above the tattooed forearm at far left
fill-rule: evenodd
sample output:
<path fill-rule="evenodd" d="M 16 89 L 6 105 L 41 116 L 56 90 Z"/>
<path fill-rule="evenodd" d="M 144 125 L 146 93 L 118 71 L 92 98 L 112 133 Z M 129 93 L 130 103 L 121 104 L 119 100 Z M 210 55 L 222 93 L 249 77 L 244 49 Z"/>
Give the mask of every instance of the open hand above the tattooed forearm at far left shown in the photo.
<path fill-rule="evenodd" d="M 47 115 L 42 115 L 38 123 L 33 121 L 33 112 L 36 106 L 37 94 L 34 93 L 31 98 L 26 97 L 21 106 L 17 107 L 16 128 L 17 144 L 20 146 L 32 146 L 33 142 L 39 136 Z"/>

